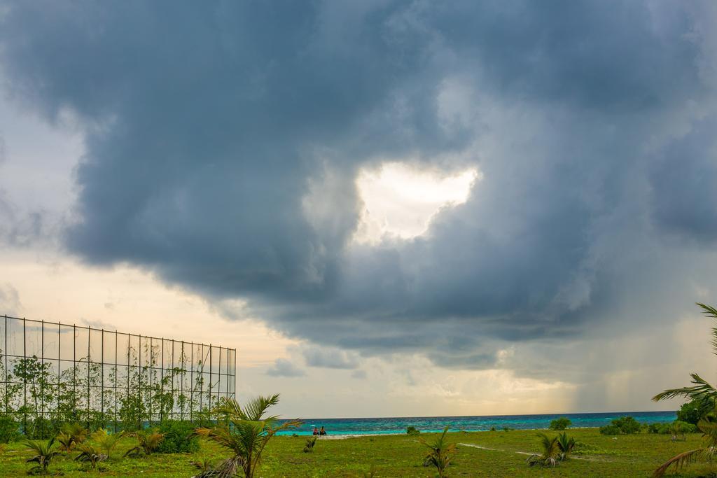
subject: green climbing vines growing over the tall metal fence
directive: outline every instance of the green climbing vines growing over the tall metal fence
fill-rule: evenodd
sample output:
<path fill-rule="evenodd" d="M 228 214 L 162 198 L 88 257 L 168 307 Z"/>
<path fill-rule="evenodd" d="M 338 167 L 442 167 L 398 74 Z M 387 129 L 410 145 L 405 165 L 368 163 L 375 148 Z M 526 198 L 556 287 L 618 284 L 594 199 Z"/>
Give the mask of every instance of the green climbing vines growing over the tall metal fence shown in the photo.
<path fill-rule="evenodd" d="M 211 419 L 219 382 L 205 380 L 202 360 L 193 370 L 182 348 L 175 366 L 163 368 L 158 345 L 143 345 L 144 350 L 128 346 L 128 363 L 119 368 L 89 357 L 11 358 L 0 350 L 0 421 L 14 421 L 25 435 L 45 438 L 66 423 L 136 431 L 168 419 Z M 131 365 L 139 360 L 141 365 Z"/>

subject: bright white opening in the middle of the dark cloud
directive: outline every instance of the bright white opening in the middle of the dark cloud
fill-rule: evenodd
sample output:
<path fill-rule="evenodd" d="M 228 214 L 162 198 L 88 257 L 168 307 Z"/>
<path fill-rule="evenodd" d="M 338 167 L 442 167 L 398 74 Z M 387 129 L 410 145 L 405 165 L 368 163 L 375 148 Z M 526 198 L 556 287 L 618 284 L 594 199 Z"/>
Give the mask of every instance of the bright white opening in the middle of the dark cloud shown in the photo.
<path fill-rule="evenodd" d="M 406 163 L 365 169 L 356 180 L 364 210 L 353 239 L 376 244 L 385 236 L 420 236 L 441 208 L 465 203 L 473 183 L 481 177 L 476 168 L 446 175 L 435 168 Z"/>

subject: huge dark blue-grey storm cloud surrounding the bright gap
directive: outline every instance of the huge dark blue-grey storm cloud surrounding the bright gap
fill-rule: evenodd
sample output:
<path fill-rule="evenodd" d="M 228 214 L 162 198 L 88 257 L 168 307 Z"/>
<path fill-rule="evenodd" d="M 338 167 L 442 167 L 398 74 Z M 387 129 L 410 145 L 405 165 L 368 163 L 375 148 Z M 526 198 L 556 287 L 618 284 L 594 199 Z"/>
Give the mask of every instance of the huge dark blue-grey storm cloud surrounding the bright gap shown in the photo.
<path fill-rule="evenodd" d="M 37 1 L 9 3 L 0 42 L 11 90 L 86 130 L 73 253 L 247 299 L 328 347 L 490 368 L 505 343 L 694 301 L 663 292 L 717 234 L 714 18 L 708 2 Z M 350 246 L 356 174 L 382 158 L 483 181 L 425 236 Z"/>

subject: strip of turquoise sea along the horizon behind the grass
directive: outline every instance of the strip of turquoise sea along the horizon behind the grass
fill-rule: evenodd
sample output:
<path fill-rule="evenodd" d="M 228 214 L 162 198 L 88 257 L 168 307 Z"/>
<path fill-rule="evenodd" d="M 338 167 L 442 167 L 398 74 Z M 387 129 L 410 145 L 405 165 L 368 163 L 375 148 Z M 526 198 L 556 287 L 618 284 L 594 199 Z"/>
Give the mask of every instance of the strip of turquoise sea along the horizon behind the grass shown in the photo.
<path fill-rule="evenodd" d="M 605 414 L 554 414 L 554 415 L 495 415 L 495 416 L 423 416 L 397 417 L 386 419 L 304 419 L 299 429 L 280 434 L 310 435 L 313 427 L 325 426 L 329 435 L 397 434 L 406 433 L 408 426 L 420 431 L 440 431 L 450 426 L 451 431 L 488 431 L 491 427 L 503 429 L 531 430 L 546 429 L 550 421 L 566 416 L 571 427 L 594 427 L 608 424 L 612 419 L 630 415 L 645 424 L 675 420 L 674 411 L 626 411 Z"/>

